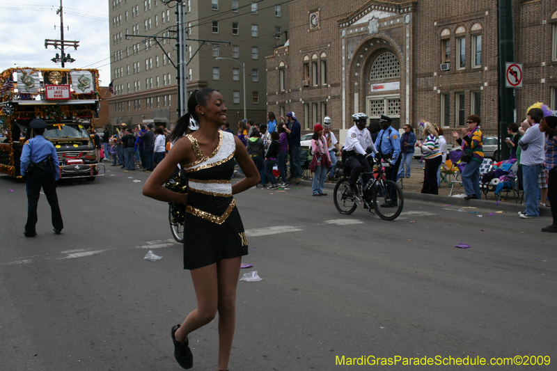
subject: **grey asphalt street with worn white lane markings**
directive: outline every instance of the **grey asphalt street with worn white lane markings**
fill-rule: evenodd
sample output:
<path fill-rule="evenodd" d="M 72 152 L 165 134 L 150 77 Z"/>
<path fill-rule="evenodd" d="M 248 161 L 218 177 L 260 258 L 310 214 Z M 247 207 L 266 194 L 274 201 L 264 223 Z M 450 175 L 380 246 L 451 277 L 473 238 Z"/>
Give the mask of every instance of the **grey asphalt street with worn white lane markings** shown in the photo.
<path fill-rule="evenodd" d="M 61 235 L 41 196 L 35 238 L 23 236 L 25 185 L 0 176 L 0 370 L 181 370 L 171 326 L 196 300 L 168 205 L 141 195 L 147 173 L 107 169 L 58 185 Z M 253 265 L 241 274 L 262 281 L 238 284 L 230 371 L 557 369 L 549 218 L 407 199 L 383 221 L 361 207 L 339 214 L 326 191 L 235 196 Z M 144 260 L 149 250 L 162 259 Z M 190 335 L 193 370 L 216 370 L 216 321 Z M 343 356 L 551 364 L 338 365 Z"/>

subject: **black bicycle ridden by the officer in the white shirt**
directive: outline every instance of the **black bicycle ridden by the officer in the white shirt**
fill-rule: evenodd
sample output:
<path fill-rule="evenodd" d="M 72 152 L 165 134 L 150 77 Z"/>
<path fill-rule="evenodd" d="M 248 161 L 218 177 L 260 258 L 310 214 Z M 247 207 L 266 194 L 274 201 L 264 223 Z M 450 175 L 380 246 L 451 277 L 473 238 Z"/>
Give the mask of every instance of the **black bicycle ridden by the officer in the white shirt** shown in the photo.
<path fill-rule="evenodd" d="M 346 191 L 350 169 L 346 167 L 338 169 L 340 180 L 336 183 L 334 190 L 336 210 L 340 214 L 352 214 L 358 205 L 363 204 L 371 214 L 377 214 L 384 220 L 394 220 L 398 218 L 405 204 L 402 189 L 392 180 L 386 180 L 385 168 L 390 166 L 388 162 L 379 161 L 374 164 L 372 157 L 368 157 L 368 160 L 373 169 L 372 177 L 366 184 L 362 184 L 361 177 L 359 177 L 352 193 Z M 393 200 L 393 192 L 396 192 L 396 201 Z"/>

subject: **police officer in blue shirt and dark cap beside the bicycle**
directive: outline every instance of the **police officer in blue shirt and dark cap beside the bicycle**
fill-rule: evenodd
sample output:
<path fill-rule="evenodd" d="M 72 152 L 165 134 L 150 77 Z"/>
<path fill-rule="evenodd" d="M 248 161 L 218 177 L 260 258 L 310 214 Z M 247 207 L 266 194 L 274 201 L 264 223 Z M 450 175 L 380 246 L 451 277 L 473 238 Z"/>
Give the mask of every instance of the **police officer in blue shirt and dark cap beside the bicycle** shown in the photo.
<path fill-rule="evenodd" d="M 398 168 L 400 167 L 400 134 L 398 130 L 391 126 L 391 119 L 389 116 L 381 115 L 379 118 L 379 126 L 381 126 L 381 131 L 377 134 L 377 139 L 375 139 L 375 147 L 379 151 L 379 156 L 389 161 L 391 166 L 385 169 L 386 180 L 392 180 L 396 182 L 396 175 L 398 174 Z M 392 206 L 395 206 L 398 202 L 397 193 L 391 190 L 391 201 Z"/>

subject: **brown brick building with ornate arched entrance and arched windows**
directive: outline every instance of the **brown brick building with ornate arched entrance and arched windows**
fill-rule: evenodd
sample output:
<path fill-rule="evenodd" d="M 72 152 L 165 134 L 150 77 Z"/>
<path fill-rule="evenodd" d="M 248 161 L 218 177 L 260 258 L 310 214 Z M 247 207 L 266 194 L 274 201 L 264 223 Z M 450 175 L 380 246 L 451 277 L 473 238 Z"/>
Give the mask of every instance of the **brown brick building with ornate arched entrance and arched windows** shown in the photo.
<path fill-rule="evenodd" d="M 355 112 L 446 131 L 476 113 L 497 134 L 496 0 L 302 0 L 290 15 L 287 44 L 267 57 L 269 111 L 295 111 L 306 130 L 328 115 L 340 139 Z M 537 101 L 557 109 L 557 1 L 513 1 L 513 17 L 521 120 Z"/>

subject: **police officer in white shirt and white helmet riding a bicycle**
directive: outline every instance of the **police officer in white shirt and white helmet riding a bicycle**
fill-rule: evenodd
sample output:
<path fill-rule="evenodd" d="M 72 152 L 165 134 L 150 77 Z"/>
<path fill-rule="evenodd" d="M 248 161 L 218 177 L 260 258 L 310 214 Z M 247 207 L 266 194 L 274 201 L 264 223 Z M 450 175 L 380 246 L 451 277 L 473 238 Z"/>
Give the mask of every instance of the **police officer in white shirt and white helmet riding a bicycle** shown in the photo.
<path fill-rule="evenodd" d="M 372 168 L 369 160 L 366 158 L 368 155 L 368 148 L 372 150 L 373 153 L 377 153 L 377 149 L 373 144 L 371 135 L 366 125 L 368 123 L 368 116 L 365 113 L 355 113 L 352 115 L 354 120 L 354 126 L 351 127 L 346 133 L 346 140 L 344 143 L 344 150 L 346 151 L 346 166 L 350 170 L 350 178 L 348 179 L 348 184 L 345 191 L 346 196 L 352 196 L 354 194 L 354 187 L 358 181 L 360 174 L 363 177 L 363 183 L 366 184 L 370 180 Z"/>

